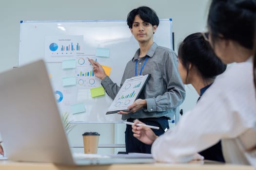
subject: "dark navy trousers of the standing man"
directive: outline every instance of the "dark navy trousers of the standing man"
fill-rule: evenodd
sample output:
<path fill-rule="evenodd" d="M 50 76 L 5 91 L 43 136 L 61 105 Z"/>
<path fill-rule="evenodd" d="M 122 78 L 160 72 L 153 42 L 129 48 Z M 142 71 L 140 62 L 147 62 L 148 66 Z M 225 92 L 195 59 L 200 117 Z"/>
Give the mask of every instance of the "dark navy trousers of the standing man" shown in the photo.
<path fill-rule="evenodd" d="M 133 122 L 135 119 L 127 119 L 127 121 Z M 164 130 L 169 129 L 168 118 L 144 118 L 138 119 L 147 125 L 158 126 L 157 129 L 152 129 L 157 136 L 164 134 Z M 132 126 L 126 125 L 125 130 L 125 148 L 126 153 L 151 153 L 151 145 L 147 145 L 139 141 L 136 137 L 133 136 Z"/>

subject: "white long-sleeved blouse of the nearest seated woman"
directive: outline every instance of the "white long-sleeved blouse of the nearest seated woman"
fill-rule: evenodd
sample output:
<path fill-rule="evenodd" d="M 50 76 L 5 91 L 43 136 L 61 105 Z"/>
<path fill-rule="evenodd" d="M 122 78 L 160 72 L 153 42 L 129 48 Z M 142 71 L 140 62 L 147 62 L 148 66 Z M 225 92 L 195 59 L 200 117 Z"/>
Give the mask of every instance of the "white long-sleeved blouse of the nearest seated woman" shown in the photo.
<path fill-rule="evenodd" d="M 219 75 L 194 109 L 185 113 L 174 129 L 158 137 L 153 143 L 152 154 L 161 162 L 188 162 L 196 153 L 222 139 L 226 161 L 249 164 L 246 142 L 237 149 L 240 144 L 236 140 L 239 137 L 244 141 L 253 139 L 255 136 L 247 136 L 247 139 L 243 135 L 253 128 L 256 136 L 256 91 L 253 64 L 249 59 Z M 226 147 L 234 142 L 231 146 L 236 148 Z M 233 149 L 238 152 L 235 156 L 230 152 Z M 237 162 L 237 157 L 242 160 Z M 256 157 L 250 159 L 256 162 Z"/>

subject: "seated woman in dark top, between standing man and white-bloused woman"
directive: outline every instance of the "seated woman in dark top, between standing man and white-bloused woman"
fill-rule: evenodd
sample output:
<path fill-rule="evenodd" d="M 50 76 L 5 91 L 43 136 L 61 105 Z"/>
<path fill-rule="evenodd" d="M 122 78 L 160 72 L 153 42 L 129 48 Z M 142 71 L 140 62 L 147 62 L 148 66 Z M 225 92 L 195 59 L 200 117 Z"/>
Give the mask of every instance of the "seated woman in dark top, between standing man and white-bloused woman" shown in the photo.
<path fill-rule="evenodd" d="M 185 85 L 191 84 L 200 97 L 225 69 L 226 65 L 217 58 L 203 34 L 191 34 L 179 45 L 178 71 L 182 82 Z M 200 154 L 205 159 L 224 162 L 220 141 Z"/>

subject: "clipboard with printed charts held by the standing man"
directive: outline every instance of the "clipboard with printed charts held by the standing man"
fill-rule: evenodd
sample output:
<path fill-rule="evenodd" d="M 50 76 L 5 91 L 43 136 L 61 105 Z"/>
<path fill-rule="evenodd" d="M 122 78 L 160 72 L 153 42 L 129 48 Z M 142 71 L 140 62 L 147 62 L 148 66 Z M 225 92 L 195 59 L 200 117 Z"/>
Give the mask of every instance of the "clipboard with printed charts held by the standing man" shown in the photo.
<path fill-rule="evenodd" d="M 118 113 L 118 111 L 128 112 L 127 107 L 138 99 L 149 77 L 150 74 L 145 74 L 126 79 L 108 108 L 106 115 Z"/>

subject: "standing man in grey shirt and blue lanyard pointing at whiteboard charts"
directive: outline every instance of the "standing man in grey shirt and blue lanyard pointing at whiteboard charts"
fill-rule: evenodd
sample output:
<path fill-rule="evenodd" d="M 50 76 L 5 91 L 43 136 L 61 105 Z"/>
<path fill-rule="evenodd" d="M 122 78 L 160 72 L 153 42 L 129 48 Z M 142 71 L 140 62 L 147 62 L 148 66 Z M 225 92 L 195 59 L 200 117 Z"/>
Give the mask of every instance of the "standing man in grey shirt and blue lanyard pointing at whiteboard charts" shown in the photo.
<path fill-rule="evenodd" d="M 133 9 L 127 16 L 127 24 L 138 41 L 139 49 L 127 63 L 121 85 L 128 78 L 151 74 L 138 99 L 128 106 L 129 112 L 119 111 L 122 119 L 138 119 L 145 124 L 158 126 L 154 130 L 158 136 L 169 129 L 168 119 L 184 101 L 185 90 L 177 69 L 177 56 L 174 51 L 158 46 L 153 41 L 159 19 L 156 12 L 146 6 Z M 120 87 L 105 74 L 98 62 L 89 59 L 101 85 L 114 99 Z M 126 125 L 125 147 L 127 153 L 151 153 L 151 145 L 140 142 L 133 136 L 131 125 Z"/>

